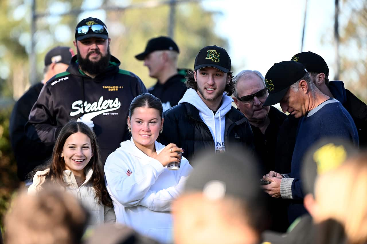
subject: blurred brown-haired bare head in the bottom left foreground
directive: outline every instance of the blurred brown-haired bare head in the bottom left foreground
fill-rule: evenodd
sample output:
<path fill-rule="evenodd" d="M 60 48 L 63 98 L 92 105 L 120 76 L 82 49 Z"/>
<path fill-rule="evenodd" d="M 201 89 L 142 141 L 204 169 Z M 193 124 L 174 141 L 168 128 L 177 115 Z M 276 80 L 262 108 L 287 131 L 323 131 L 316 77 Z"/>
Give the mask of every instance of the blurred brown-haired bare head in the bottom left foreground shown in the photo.
<path fill-rule="evenodd" d="M 77 244 L 87 220 L 75 197 L 48 186 L 37 195 L 22 192 L 13 200 L 4 239 L 8 244 Z"/>

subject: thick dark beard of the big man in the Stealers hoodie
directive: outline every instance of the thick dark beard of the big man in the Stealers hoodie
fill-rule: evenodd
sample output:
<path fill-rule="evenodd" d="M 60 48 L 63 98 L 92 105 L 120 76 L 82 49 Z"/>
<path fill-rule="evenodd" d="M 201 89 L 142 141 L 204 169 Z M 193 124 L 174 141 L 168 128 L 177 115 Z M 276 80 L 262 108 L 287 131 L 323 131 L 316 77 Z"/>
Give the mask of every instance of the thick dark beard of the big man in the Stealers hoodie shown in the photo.
<path fill-rule="evenodd" d="M 106 68 L 108 67 L 111 58 L 110 47 L 107 47 L 107 54 L 105 56 L 102 55 L 101 59 L 99 59 L 98 61 L 91 61 L 89 59 L 91 53 L 88 53 L 86 58 L 83 59 L 80 55 L 79 48 L 76 47 L 76 49 L 77 49 L 78 64 L 82 71 L 88 74 L 98 75 L 103 71 L 105 71 Z M 98 54 L 101 53 L 99 50 L 95 50 L 94 52 Z"/>

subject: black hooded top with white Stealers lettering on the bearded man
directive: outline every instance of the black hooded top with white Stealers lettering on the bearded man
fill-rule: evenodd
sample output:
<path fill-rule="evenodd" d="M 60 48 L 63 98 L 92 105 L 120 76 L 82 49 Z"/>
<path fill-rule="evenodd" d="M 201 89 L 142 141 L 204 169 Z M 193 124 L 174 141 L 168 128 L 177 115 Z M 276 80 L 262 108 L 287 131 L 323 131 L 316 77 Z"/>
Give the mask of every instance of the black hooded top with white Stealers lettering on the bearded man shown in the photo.
<path fill-rule="evenodd" d="M 70 119 L 90 119 L 94 123 L 101 159 L 129 138 L 127 116 L 135 96 L 146 92 L 135 74 L 119 69 L 120 61 L 111 56 L 110 64 L 95 78 L 78 68 L 77 56 L 66 72 L 55 75 L 41 90 L 26 125 L 27 136 L 46 145 L 53 145 Z"/>

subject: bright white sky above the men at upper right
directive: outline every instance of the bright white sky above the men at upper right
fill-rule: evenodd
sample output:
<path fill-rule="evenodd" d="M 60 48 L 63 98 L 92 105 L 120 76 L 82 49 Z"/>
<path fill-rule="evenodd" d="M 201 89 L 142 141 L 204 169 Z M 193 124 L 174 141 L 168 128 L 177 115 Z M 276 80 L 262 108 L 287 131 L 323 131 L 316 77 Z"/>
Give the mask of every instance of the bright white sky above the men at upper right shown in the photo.
<path fill-rule="evenodd" d="M 306 0 L 206 0 L 202 5 L 218 15 L 217 33 L 229 40 L 234 73 L 260 71 L 301 52 Z M 341 5 L 342 7 L 342 5 Z M 303 51 L 321 55 L 334 77 L 334 0 L 308 0 Z M 325 42 L 321 43 L 321 40 Z"/>

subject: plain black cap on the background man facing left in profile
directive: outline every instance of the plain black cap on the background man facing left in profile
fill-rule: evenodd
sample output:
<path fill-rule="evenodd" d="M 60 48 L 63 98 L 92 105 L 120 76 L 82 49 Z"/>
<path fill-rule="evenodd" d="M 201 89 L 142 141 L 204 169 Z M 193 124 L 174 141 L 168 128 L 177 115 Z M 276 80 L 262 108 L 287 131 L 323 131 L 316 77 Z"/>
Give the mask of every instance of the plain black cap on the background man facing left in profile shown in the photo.
<path fill-rule="evenodd" d="M 138 60 L 144 60 L 149 53 L 162 50 L 176 51 L 177 53 L 180 52 L 177 44 L 170 37 L 160 36 L 150 39 L 146 44 L 145 51 L 135 55 L 135 58 Z"/>

